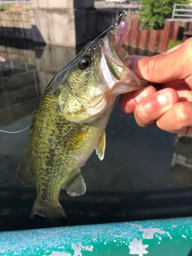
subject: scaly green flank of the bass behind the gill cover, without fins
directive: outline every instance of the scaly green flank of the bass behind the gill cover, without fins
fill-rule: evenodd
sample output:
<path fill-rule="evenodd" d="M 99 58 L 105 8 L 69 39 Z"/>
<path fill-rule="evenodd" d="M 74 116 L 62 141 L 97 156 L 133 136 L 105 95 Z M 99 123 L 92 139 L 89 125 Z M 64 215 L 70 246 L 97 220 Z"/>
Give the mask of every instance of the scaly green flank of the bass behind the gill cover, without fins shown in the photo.
<path fill-rule="evenodd" d="M 84 164 L 85 156 L 82 152 L 87 152 L 91 146 L 95 145 L 95 141 L 98 141 L 98 137 L 105 128 L 103 118 L 106 118 L 106 122 L 109 118 L 109 114 L 105 113 L 106 117 L 99 117 L 91 124 L 67 121 L 58 113 L 55 101 L 58 91 L 54 91 L 53 94 L 52 87 L 48 86 L 34 113 L 33 124 L 30 127 L 29 150 L 34 162 L 38 194 L 32 214 L 38 211 L 45 215 L 44 210 L 39 209 L 38 205 L 46 206 L 47 209 L 60 207 L 58 202 L 60 190 L 65 188 L 76 174 L 76 172 L 71 175 L 70 173 Z M 101 128 L 98 129 L 98 126 Z M 51 218 L 49 214 L 46 216 Z M 63 217 L 65 217 L 64 212 Z"/>

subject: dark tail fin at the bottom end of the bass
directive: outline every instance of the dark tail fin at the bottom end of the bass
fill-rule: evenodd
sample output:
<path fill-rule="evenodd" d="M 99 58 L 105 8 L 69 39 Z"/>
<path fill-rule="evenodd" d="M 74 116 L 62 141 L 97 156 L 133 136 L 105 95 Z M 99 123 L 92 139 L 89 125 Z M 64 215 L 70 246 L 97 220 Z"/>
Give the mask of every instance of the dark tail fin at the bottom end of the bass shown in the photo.
<path fill-rule="evenodd" d="M 66 218 L 66 213 L 62 209 L 62 206 L 58 204 L 57 207 L 54 206 L 43 206 L 38 199 L 34 201 L 34 206 L 31 211 L 30 217 L 33 218 L 34 214 L 38 214 L 54 225 L 54 226 L 66 226 L 69 224 Z"/>

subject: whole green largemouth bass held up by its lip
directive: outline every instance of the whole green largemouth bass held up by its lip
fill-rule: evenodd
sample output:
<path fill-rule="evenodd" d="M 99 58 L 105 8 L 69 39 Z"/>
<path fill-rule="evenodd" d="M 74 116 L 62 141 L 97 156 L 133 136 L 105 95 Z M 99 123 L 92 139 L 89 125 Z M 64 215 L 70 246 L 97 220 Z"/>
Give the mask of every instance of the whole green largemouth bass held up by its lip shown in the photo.
<path fill-rule="evenodd" d="M 129 69 L 128 53 L 122 48 L 126 13 L 116 23 L 58 72 L 34 111 L 29 146 L 18 163 L 18 178 L 25 186 L 36 180 L 31 217 L 39 214 L 66 224 L 60 191 L 71 196 L 86 192 L 80 168 L 94 150 L 100 160 L 104 158 L 105 128 L 115 99 L 148 84 Z"/>

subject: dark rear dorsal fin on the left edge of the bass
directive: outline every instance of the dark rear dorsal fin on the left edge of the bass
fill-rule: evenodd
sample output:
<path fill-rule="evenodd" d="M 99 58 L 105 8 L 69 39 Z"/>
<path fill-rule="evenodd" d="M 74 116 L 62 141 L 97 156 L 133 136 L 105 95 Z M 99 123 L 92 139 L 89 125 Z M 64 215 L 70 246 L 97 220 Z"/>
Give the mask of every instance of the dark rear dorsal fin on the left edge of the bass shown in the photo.
<path fill-rule="evenodd" d="M 17 174 L 18 178 L 25 186 L 29 186 L 34 179 L 34 169 L 28 147 L 24 151 L 24 153 L 22 154 L 22 158 L 18 162 Z"/>

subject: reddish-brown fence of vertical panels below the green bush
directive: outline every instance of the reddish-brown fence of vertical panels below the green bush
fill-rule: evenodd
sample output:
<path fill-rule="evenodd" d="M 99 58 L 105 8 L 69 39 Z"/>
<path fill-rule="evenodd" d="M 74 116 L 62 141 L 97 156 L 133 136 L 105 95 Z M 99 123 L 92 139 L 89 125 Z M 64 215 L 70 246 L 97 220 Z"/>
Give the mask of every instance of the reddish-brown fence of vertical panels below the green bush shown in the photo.
<path fill-rule="evenodd" d="M 166 19 L 163 30 L 142 30 L 138 19 L 132 19 L 125 45 L 162 53 L 167 49 L 170 40 L 182 40 L 184 31 L 189 29 L 190 23 L 190 19 Z"/>

